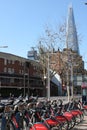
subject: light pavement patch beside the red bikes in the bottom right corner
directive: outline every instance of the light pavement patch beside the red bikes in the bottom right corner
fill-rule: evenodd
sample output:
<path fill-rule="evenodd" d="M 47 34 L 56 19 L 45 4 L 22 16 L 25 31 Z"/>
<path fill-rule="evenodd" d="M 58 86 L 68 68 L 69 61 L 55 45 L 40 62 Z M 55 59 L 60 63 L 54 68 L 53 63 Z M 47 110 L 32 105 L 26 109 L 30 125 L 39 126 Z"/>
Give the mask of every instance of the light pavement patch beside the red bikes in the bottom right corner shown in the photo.
<path fill-rule="evenodd" d="M 84 116 L 84 120 L 76 125 L 72 130 L 87 130 L 87 116 Z"/>

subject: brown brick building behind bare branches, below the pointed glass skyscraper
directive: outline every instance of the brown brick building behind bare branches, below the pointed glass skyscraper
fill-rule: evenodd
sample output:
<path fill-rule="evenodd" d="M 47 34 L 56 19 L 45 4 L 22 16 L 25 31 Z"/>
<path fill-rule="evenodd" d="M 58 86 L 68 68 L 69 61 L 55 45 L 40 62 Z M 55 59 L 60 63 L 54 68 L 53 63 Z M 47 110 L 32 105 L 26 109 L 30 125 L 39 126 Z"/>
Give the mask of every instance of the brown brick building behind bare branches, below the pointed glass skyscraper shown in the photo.
<path fill-rule="evenodd" d="M 81 93 L 81 84 L 84 81 L 84 74 L 86 73 L 82 56 L 71 49 L 63 49 L 63 51 L 58 49 L 58 51 L 55 51 L 51 55 L 51 61 L 54 63 L 51 67 L 54 68 L 61 77 L 62 89 L 66 90 L 67 85 L 72 86 L 73 82 L 74 91 Z"/>

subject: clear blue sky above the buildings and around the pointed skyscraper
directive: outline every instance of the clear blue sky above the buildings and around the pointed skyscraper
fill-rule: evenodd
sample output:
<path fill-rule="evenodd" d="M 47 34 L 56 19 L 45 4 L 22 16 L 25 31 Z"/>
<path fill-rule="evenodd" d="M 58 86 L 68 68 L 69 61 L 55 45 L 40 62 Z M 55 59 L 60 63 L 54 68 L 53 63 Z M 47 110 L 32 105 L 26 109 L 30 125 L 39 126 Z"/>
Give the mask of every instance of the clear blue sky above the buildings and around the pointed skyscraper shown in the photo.
<path fill-rule="evenodd" d="M 2 52 L 27 57 L 36 47 L 46 24 L 57 26 L 73 5 L 77 31 L 81 35 L 80 55 L 87 61 L 87 0 L 0 0 L 0 48 Z M 86 63 L 87 66 L 87 63 Z"/>

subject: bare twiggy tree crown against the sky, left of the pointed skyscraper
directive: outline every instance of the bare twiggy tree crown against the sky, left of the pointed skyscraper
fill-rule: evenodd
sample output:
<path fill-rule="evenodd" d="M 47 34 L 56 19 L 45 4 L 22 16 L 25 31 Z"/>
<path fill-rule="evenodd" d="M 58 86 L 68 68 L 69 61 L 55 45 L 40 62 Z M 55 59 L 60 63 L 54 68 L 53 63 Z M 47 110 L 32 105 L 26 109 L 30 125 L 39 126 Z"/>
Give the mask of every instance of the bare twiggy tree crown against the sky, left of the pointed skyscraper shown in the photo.
<path fill-rule="evenodd" d="M 50 73 L 50 77 L 52 78 L 56 73 L 58 73 L 58 70 L 55 69 L 55 66 L 57 66 L 57 64 L 52 63 L 51 59 L 52 59 L 53 53 L 55 51 L 58 51 L 58 48 L 61 48 L 61 50 L 64 48 L 65 38 L 66 38 L 65 22 L 57 26 L 56 29 L 51 29 L 48 26 L 46 26 L 45 33 L 42 37 L 40 37 L 38 45 L 37 45 L 38 53 L 39 53 L 39 60 L 43 66 L 44 75 L 46 75 L 46 71 L 47 71 L 48 53 L 50 54 L 50 57 L 49 57 L 50 69 L 52 70 Z"/>

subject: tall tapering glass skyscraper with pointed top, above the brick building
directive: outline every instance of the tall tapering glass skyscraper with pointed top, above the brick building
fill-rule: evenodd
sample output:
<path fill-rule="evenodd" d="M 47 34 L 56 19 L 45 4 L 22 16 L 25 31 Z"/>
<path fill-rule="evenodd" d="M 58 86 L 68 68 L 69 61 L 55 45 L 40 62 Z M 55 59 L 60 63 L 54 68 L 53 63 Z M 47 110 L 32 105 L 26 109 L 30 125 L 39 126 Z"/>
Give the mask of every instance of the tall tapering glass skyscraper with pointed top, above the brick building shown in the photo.
<path fill-rule="evenodd" d="M 72 5 L 69 6 L 68 9 L 68 18 L 66 26 L 66 48 L 72 49 L 79 55 L 78 37 Z"/>

